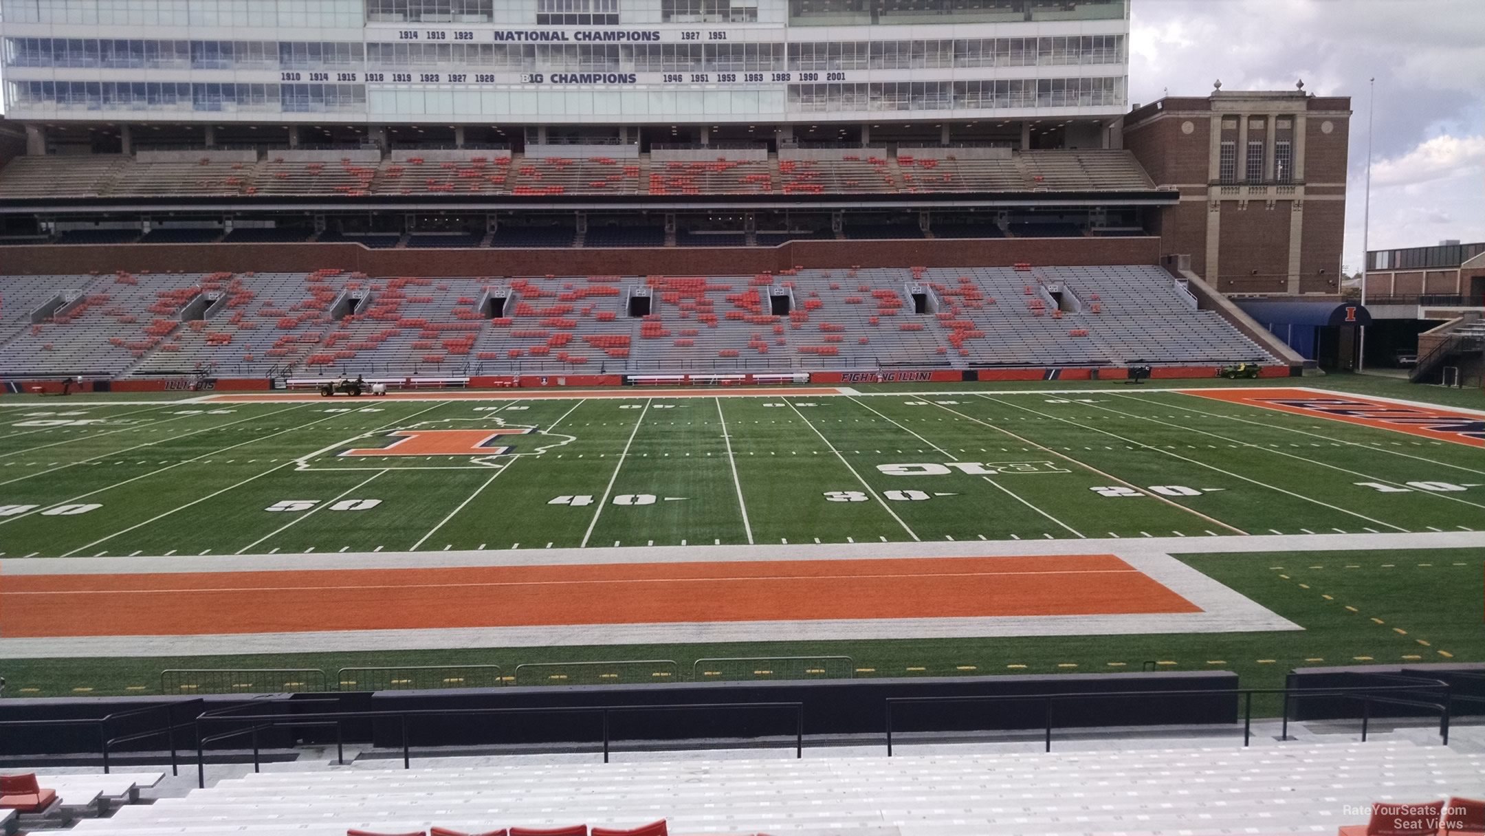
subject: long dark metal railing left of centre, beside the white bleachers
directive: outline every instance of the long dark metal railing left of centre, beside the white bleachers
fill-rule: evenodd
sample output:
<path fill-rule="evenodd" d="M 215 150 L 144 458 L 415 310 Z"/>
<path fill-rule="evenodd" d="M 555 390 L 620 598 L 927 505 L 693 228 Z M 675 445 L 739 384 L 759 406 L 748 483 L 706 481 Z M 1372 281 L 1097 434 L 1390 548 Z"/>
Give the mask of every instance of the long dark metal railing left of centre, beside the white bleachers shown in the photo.
<path fill-rule="evenodd" d="M 309 702 L 339 702 L 337 699 L 296 699 L 278 701 L 276 705 L 304 705 Z M 261 707 L 261 705 L 255 705 Z M 411 769 L 411 747 L 408 742 L 408 723 L 420 717 L 486 717 L 486 716 L 536 716 L 536 714 L 590 714 L 603 720 L 603 762 L 609 762 L 613 738 L 610 737 L 609 717 L 621 713 L 640 711 L 702 711 L 702 710 L 780 710 L 789 708 L 794 716 L 794 757 L 805 756 L 805 704 L 803 702 L 673 702 L 656 705 L 557 705 L 557 707 L 523 707 L 523 708 L 414 708 L 405 711 L 321 711 L 304 714 L 235 714 L 244 707 L 224 708 L 221 711 L 203 711 L 196 717 L 196 783 L 206 786 L 206 744 L 230 739 L 236 737 L 252 737 L 252 771 L 258 771 L 260 748 L 258 734 L 276 728 L 334 728 L 337 762 L 345 763 L 345 731 L 346 720 L 379 720 L 395 719 L 402 748 L 402 769 Z M 211 723 L 249 723 L 247 728 L 230 729 L 214 735 L 202 734 L 205 725 Z"/>

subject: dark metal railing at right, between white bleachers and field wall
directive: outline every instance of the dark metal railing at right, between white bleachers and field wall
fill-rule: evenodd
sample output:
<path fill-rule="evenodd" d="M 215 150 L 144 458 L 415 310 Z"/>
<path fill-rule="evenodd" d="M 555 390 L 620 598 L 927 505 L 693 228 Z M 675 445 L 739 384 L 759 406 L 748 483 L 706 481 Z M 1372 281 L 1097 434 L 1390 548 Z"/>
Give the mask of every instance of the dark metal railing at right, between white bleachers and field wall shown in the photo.
<path fill-rule="evenodd" d="M 1408 679 L 1408 677 L 1400 677 Z M 887 756 L 892 756 L 892 708 L 904 704 L 950 704 L 950 702 L 1026 702 L 1040 701 L 1044 704 L 1045 723 L 1042 725 L 1044 751 L 1051 751 L 1051 731 L 1056 728 L 1054 705 L 1075 699 L 1149 699 L 1149 698 L 1241 698 L 1243 699 L 1243 745 L 1249 745 L 1253 725 L 1253 695 L 1273 693 L 1283 695 L 1283 732 L 1282 739 L 1289 739 L 1289 708 L 1295 699 L 1314 696 L 1329 696 L 1338 699 L 1359 699 L 1362 702 L 1362 741 L 1371 726 L 1372 702 L 1390 705 L 1411 705 L 1432 708 L 1439 713 L 1439 738 L 1443 745 L 1449 744 L 1449 717 L 1452 714 L 1451 699 L 1467 699 L 1485 702 L 1485 698 L 1452 695 L 1449 683 L 1433 679 L 1411 679 L 1414 685 L 1383 685 L 1383 686 L 1336 686 L 1336 688 L 1231 688 L 1231 689 L 1152 689 L 1152 690 L 1087 690 L 1062 693 L 988 693 L 976 696 L 888 696 L 887 698 Z M 1437 701 L 1409 699 L 1405 696 L 1390 696 L 1393 693 L 1436 693 Z M 919 729 L 924 731 L 924 729 Z M 928 729 L 931 731 L 931 729 Z"/>

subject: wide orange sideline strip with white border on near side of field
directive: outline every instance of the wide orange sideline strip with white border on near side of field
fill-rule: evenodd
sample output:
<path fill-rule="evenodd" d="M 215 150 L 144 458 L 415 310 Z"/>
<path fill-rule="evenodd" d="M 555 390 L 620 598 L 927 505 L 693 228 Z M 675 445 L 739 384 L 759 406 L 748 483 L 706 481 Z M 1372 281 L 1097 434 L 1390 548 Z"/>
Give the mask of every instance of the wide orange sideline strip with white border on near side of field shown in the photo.
<path fill-rule="evenodd" d="M 0 636 L 1192 612 L 1114 555 L 30 575 Z"/>

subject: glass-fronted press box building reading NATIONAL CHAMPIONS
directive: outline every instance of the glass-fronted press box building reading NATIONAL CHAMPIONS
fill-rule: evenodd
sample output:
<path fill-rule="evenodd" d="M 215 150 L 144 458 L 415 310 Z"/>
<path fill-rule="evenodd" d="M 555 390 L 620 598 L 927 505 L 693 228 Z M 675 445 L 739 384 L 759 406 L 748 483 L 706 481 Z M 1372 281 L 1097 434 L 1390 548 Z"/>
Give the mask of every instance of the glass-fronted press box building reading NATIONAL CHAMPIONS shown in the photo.
<path fill-rule="evenodd" d="M 6 114 L 33 154 L 67 125 L 122 153 L 356 137 L 1099 148 L 1127 104 L 1124 0 L 3 0 L 0 12 Z"/>

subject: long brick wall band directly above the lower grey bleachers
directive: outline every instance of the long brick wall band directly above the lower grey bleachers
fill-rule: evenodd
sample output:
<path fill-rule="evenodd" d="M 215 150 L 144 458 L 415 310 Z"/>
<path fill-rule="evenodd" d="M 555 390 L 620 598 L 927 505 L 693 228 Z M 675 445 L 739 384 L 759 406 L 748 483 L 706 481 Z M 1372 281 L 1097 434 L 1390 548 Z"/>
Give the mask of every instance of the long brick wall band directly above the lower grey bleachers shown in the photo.
<path fill-rule="evenodd" d="M 802 267 L 1158 264 L 1158 238 L 800 241 L 778 248 L 368 249 L 359 244 L 126 244 L 6 246 L 0 275 L 260 273 L 321 267 L 374 276 L 750 275 Z"/>

